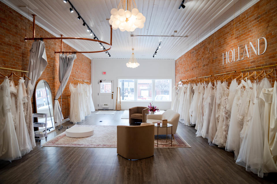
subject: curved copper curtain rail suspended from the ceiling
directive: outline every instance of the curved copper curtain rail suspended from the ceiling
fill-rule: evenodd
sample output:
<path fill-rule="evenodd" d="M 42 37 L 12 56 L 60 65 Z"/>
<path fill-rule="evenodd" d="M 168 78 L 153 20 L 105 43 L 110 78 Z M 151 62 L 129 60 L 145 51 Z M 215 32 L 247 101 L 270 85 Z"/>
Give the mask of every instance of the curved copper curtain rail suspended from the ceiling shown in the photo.
<path fill-rule="evenodd" d="M 79 37 L 63 37 L 63 35 L 61 34 L 61 37 L 50 37 L 50 38 L 35 38 L 35 14 L 32 14 L 33 16 L 33 38 L 24 38 L 24 41 L 28 41 L 28 40 L 59 40 L 61 39 L 61 51 L 55 51 L 55 53 L 98 53 L 98 52 L 105 52 L 108 51 L 112 48 L 112 35 L 113 35 L 113 29 L 112 26 L 110 26 L 111 29 L 111 40 L 110 43 L 104 42 L 104 41 L 100 41 L 100 40 L 95 40 L 95 39 L 90 39 L 90 38 L 79 38 Z M 104 43 L 110 46 L 110 48 L 105 49 L 105 50 L 101 50 L 101 51 L 62 51 L 63 48 L 63 40 L 87 40 L 87 41 L 96 41 L 96 42 L 100 42 L 100 43 Z"/>

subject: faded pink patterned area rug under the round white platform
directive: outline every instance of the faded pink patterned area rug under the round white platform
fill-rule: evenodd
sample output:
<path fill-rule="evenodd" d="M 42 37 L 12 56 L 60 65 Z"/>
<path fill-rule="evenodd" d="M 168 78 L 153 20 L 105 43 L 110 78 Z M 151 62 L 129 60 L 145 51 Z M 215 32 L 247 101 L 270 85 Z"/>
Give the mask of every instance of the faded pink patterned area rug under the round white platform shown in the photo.
<path fill-rule="evenodd" d="M 89 137 L 73 138 L 67 137 L 65 132 L 57 135 L 50 141 L 47 141 L 42 146 L 62 146 L 62 147 L 117 147 L 116 126 L 102 125 L 74 125 L 77 127 L 92 127 L 94 134 Z M 172 147 L 190 147 L 190 145 L 177 133 L 174 135 Z M 157 136 L 155 136 L 155 139 Z M 165 135 L 159 135 L 159 143 L 166 142 Z M 171 135 L 168 135 L 171 139 Z M 154 147 L 157 147 L 155 144 Z M 171 147 L 168 145 L 159 145 L 159 147 Z"/>

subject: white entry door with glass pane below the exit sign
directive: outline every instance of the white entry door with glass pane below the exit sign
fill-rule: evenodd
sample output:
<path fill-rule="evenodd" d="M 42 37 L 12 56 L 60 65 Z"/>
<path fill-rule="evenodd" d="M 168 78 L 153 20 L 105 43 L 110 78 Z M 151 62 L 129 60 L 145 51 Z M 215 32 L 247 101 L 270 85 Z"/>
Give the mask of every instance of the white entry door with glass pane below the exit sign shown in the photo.
<path fill-rule="evenodd" d="M 98 109 L 113 109 L 113 81 L 98 81 Z"/>

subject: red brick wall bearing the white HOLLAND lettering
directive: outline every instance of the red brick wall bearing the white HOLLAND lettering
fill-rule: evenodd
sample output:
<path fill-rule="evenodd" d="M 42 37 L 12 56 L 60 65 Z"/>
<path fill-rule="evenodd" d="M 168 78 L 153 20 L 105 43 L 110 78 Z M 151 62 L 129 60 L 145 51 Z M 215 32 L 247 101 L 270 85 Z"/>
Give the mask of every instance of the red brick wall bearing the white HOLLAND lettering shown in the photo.
<path fill-rule="evenodd" d="M 235 22 L 235 25 L 234 25 Z M 234 34 L 235 33 L 235 34 Z M 241 69 L 277 64 L 277 1 L 263 0 L 244 11 L 240 16 L 220 28 L 207 39 L 196 45 L 190 51 L 175 61 L 175 81 L 237 71 L 234 76 L 241 74 Z M 267 39 L 267 50 L 262 55 L 255 55 L 251 49 L 251 57 L 244 60 L 222 64 L 222 53 L 240 47 L 240 57 L 244 54 L 244 47 L 249 42 L 255 47 L 258 38 Z M 264 41 L 261 40 L 261 53 Z M 250 54 L 250 53 L 249 53 Z M 230 53 L 230 61 L 232 59 Z M 224 60 L 226 61 L 226 59 Z M 274 67 L 271 67 L 274 68 Z M 265 68 L 268 72 L 271 68 Z M 275 66 L 276 68 L 276 66 Z M 253 72 L 250 70 L 249 72 Z M 258 70 L 256 70 L 258 71 Z"/>

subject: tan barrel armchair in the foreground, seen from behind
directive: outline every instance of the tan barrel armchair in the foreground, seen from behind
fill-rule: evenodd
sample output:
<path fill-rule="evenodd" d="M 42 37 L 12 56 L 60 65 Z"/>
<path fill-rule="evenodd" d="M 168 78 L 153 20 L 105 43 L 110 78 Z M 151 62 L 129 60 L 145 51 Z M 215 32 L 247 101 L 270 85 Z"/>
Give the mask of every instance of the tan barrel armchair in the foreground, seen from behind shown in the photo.
<path fill-rule="evenodd" d="M 130 160 L 154 155 L 154 124 L 117 126 L 117 154 Z"/>

